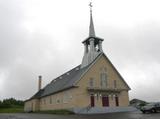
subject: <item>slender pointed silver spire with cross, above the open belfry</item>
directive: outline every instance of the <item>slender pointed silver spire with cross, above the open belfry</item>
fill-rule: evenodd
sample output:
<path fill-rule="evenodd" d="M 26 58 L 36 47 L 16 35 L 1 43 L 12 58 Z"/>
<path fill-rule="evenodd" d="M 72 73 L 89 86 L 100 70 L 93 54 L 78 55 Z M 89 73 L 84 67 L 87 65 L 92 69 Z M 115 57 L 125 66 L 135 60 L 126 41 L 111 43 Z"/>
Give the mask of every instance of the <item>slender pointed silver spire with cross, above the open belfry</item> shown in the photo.
<path fill-rule="evenodd" d="M 95 37 L 94 24 L 92 18 L 92 2 L 89 4 L 90 6 L 90 26 L 89 26 L 89 37 Z"/>

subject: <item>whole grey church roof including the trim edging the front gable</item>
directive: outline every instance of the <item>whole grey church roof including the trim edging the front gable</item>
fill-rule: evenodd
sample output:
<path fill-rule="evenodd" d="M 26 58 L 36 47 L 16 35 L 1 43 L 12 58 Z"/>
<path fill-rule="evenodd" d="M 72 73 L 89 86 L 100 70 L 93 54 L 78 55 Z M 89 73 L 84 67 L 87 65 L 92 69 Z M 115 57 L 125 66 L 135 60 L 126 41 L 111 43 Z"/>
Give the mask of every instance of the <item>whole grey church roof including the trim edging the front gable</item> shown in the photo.
<path fill-rule="evenodd" d="M 111 61 L 108 59 L 108 57 L 104 54 L 101 53 L 99 54 L 95 60 L 89 64 L 88 66 L 81 68 L 81 65 L 71 69 L 70 71 L 62 74 L 61 76 L 53 79 L 48 85 L 46 85 L 43 89 L 39 90 L 34 96 L 32 96 L 29 100 L 31 99 L 38 99 L 41 97 L 49 96 L 51 94 L 76 87 L 76 84 L 79 82 L 79 80 L 82 78 L 84 74 L 87 73 L 87 71 L 98 61 L 98 59 L 102 56 L 105 56 L 109 63 L 112 65 L 114 70 L 117 72 L 117 74 L 121 77 L 122 81 L 125 83 L 127 88 L 130 90 L 130 87 L 128 84 L 125 82 L 123 77 L 120 75 L 120 73 L 116 70 L 114 65 L 111 63 Z M 26 100 L 27 101 L 27 100 Z"/>

